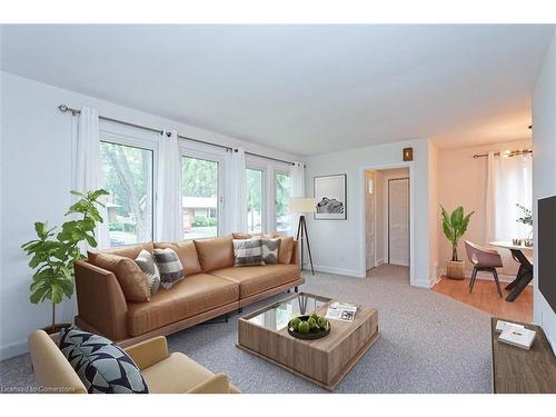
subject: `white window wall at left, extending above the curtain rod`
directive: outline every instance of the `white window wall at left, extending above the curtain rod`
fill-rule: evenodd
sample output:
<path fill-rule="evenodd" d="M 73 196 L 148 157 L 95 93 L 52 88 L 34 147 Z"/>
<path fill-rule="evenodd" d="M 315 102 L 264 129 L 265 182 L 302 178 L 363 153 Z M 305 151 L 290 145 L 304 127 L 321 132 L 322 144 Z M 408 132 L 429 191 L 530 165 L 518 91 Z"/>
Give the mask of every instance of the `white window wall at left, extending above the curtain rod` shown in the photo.
<path fill-rule="evenodd" d="M 98 100 L 2 72 L 1 112 L 1 295 L 0 358 L 27 349 L 27 336 L 48 325 L 50 306 L 29 302 L 31 270 L 20 249 L 33 239 L 33 222 L 62 221 L 72 187 L 72 117 L 61 113 L 61 103 L 95 107 L 100 115 L 156 128 L 176 128 L 180 135 L 211 142 L 242 146 L 248 151 L 298 160 L 238 139 L 197 129 L 153 115 Z M 61 320 L 71 320 L 75 300 L 59 308 Z"/>

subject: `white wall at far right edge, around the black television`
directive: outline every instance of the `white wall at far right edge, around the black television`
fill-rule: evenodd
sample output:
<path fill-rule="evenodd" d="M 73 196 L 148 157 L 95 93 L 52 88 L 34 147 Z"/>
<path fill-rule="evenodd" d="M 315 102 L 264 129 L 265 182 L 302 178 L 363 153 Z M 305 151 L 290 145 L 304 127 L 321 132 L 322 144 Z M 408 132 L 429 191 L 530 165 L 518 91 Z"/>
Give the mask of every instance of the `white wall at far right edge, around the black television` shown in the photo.
<path fill-rule="evenodd" d="M 535 83 L 533 95 L 534 257 L 538 259 L 537 205 L 556 195 L 556 32 Z M 554 277 L 553 277 L 554 278 Z M 538 264 L 534 264 L 534 320 L 543 326 L 556 350 L 556 314 L 538 290 Z"/>

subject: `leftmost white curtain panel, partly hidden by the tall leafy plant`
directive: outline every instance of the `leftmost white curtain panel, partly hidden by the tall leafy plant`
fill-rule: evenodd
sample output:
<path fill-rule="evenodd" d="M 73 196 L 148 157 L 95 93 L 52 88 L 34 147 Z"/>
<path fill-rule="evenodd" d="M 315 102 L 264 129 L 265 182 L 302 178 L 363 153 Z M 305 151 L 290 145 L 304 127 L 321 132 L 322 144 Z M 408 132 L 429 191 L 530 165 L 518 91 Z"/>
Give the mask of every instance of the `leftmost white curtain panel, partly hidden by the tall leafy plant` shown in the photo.
<path fill-rule="evenodd" d="M 83 107 L 79 116 L 75 178 L 77 191 L 87 192 L 102 187 L 99 113 L 96 109 L 88 107 Z M 101 198 L 100 201 L 106 202 L 106 199 Z M 108 214 L 103 207 L 99 207 L 99 211 L 105 222 L 97 226 L 95 237 L 97 248 L 106 249 L 110 247 Z M 83 242 L 80 248 L 87 250 L 90 246 Z"/>

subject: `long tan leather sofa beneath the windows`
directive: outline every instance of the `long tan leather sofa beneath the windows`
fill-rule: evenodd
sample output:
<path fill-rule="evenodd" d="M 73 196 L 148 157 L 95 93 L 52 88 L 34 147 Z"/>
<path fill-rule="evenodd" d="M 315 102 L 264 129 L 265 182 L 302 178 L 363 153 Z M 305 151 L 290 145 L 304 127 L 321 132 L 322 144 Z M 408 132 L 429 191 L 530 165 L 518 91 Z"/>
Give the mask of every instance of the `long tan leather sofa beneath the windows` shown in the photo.
<path fill-rule="evenodd" d="M 155 248 L 168 247 L 178 254 L 186 278 L 169 290 L 161 288 L 150 301 L 126 300 L 116 275 L 93 265 L 99 252 L 135 259 L 142 249 L 152 252 Z M 89 252 L 88 260 L 75 266 L 79 311 L 76 325 L 120 346 L 182 330 L 290 288 L 297 289 L 305 281 L 299 274 L 297 241 L 290 248 L 291 252 L 279 252 L 281 264 L 259 267 L 234 266 L 231 236 Z"/>

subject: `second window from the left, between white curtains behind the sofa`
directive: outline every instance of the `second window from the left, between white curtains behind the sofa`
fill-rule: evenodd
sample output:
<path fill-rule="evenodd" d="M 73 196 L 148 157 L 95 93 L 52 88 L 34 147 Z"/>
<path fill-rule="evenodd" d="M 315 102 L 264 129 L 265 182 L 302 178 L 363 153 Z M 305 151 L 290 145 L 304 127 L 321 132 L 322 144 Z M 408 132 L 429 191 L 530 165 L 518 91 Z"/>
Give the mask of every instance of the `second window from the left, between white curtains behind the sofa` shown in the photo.
<path fill-rule="evenodd" d="M 218 236 L 218 161 L 181 158 L 181 200 L 186 239 Z"/>

